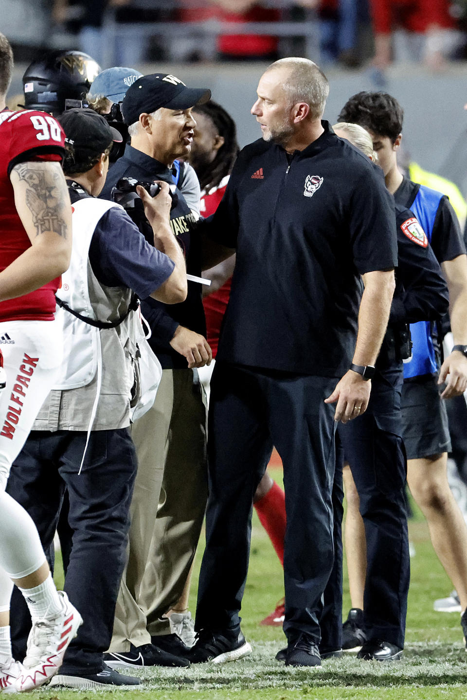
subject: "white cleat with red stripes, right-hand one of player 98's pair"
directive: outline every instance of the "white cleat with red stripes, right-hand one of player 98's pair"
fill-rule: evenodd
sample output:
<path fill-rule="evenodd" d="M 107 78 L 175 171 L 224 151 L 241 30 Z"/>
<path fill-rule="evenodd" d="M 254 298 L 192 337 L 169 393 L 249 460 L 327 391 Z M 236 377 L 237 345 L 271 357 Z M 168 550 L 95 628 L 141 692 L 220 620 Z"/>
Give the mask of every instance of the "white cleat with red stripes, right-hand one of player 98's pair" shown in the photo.
<path fill-rule="evenodd" d="M 22 662 L 23 673 L 16 682 L 17 692 L 39 687 L 57 673 L 69 643 L 83 623 L 67 594 L 64 591 L 58 591 L 58 594 L 63 599 L 62 612 L 34 622 L 29 633 L 26 657 Z"/>

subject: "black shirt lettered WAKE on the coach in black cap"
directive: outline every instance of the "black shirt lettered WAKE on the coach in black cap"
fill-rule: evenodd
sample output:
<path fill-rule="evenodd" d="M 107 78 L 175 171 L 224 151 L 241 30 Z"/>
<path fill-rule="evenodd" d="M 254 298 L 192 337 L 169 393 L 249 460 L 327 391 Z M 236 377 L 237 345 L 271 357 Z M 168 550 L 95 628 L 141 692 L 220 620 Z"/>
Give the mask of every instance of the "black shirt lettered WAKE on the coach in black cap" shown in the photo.
<path fill-rule="evenodd" d="M 122 177 L 133 177 L 146 182 L 163 180 L 169 184 L 174 183 L 172 171 L 169 168 L 130 145 L 126 146 L 122 158 L 119 158 L 109 170 L 105 187 L 100 196 L 105 200 L 110 200 L 111 188 Z M 195 230 L 195 217 L 178 188 L 176 195 L 178 198 L 176 207 L 170 212 L 172 230 L 185 253 L 187 272 L 200 276 L 200 234 Z M 148 242 L 153 241 L 153 231 L 146 219 L 138 221 L 138 228 Z M 148 297 L 141 301 L 141 311 L 151 327 L 151 338 L 148 342 L 158 356 L 162 368 L 187 367 L 186 359 L 174 351 L 169 343 L 179 325 L 190 328 L 201 335 L 206 335 L 201 285 L 196 282 L 188 282 L 188 296 L 181 304 L 162 304 L 162 302 Z"/>

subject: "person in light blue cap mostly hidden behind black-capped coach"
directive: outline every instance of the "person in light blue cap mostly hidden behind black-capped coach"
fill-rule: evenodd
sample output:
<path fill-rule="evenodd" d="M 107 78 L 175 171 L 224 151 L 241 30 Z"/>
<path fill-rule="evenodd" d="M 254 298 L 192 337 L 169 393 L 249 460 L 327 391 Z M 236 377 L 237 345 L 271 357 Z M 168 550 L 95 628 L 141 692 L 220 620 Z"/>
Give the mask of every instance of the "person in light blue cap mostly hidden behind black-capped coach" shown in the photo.
<path fill-rule="evenodd" d="M 132 68 L 108 68 L 99 73 L 89 88 L 87 102 L 92 109 L 103 114 L 109 124 L 123 136 L 123 144 L 113 148 L 111 161 L 115 162 L 125 151 L 128 137 L 128 127 L 123 121 L 122 102 L 130 85 L 142 77 L 142 73 Z M 200 183 L 195 170 L 187 162 L 175 160 L 172 168 L 174 183 L 183 195 L 188 207 L 200 214 Z"/>

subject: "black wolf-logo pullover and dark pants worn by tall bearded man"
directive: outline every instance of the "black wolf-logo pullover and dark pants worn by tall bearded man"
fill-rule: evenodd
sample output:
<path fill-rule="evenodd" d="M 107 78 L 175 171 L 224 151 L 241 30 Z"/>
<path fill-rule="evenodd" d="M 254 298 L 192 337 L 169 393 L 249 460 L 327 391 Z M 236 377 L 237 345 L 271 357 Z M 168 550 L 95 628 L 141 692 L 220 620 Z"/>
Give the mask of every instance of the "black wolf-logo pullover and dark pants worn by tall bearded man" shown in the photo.
<path fill-rule="evenodd" d="M 239 629 L 253 494 L 284 463 L 284 631 L 319 643 L 333 567 L 334 406 L 350 366 L 360 274 L 396 265 L 393 202 L 368 159 L 324 133 L 303 151 L 239 154 L 204 232 L 237 249 L 209 411 L 209 503 L 196 629 Z"/>

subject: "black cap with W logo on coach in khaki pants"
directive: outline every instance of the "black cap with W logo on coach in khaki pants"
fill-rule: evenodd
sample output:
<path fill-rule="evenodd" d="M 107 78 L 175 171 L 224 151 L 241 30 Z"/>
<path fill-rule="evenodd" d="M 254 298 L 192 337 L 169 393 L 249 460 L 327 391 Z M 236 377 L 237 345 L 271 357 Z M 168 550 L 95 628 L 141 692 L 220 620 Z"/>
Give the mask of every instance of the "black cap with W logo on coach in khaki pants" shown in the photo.
<path fill-rule="evenodd" d="M 134 124 L 143 113 L 156 109 L 189 109 L 204 104 L 211 97 L 205 87 L 186 87 L 179 78 L 164 73 L 142 76 L 131 85 L 122 102 L 125 124 Z"/>

